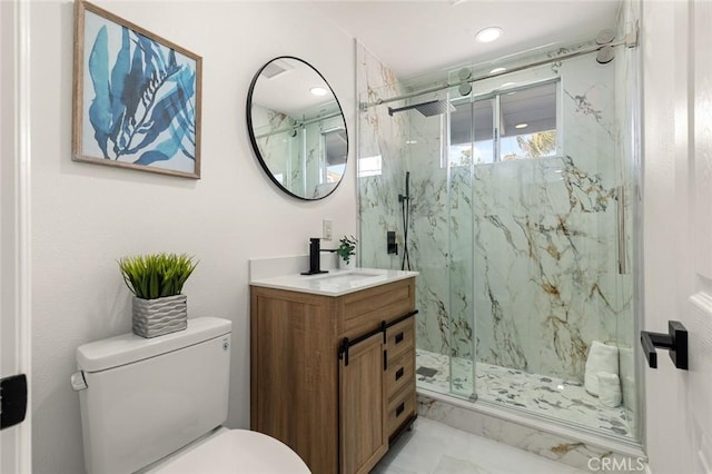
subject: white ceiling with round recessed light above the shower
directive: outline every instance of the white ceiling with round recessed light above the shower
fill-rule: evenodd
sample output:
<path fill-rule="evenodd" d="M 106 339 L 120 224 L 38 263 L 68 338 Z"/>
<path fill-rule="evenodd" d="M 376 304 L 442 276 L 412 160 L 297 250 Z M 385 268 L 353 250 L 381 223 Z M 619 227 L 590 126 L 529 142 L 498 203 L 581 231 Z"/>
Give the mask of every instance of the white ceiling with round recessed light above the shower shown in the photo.
<path fill-rule="evenodd" d="M 614 28 L 620 0 L 310 1 L 400 79 L 490 61 L 551 43 L 571 45 Z M 504 34 L 478 43 L 497 26 Z"/>

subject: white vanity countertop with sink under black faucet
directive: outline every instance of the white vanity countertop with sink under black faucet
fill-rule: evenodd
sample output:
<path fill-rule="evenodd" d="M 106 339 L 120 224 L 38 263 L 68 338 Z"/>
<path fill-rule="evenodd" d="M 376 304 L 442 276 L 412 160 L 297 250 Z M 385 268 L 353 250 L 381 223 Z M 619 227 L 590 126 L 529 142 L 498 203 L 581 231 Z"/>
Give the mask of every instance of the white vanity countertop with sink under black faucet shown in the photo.
<path fill-rule="evenodd" d="M 378 285 L 411 278 L 417 271 L 384 270 L 379 268 L 330 269 L 318 275 L 283 275 L 254 279 L 249 284 L 267 288 L 310 293 L 313 295 L 342 296 Z"/>

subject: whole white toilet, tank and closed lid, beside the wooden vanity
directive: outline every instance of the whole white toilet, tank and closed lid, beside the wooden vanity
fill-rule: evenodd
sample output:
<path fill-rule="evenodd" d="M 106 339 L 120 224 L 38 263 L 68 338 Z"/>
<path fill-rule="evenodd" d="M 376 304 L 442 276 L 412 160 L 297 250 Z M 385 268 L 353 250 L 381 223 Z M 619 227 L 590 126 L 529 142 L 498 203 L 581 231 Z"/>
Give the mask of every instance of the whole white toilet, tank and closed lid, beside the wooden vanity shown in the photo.
<path fill-rule="evenodd" d="M 77 349 L 89 474 L 308 474 L 261 433 L 227 429 L 231 323 L 202 317 L 178 333 L 125 334 Z"/>

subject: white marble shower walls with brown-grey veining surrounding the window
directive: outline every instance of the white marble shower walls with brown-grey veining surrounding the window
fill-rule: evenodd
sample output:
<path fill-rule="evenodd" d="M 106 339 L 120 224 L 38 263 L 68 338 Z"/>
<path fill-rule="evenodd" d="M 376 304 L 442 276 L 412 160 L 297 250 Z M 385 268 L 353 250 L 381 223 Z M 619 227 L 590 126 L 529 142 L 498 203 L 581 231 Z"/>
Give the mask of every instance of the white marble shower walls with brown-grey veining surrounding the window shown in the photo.
<path fill-rule="evenodd" d="M 458 357 L 476 350 L 488 364 L 582 381 L 592 340 L 633 346 L 632 332 L 622 330 L 633 320 L 632 286 L 617 274 L 614 72 L 589 55 L 506 76 L 560 81 L 555 158 L 448 168 L 443 116 L 389 117 L 386 106 L 360 113 L 359 156 L 378 148 L 389 158 L 380 176 L 359 180 L 362 265 L 397 261 L 386 256 L 385 230 L 395 226 L 402 236 L 397 194 L 409 170 L 419 348 Z M 359 75 L 362 101 L 385 97 L 384 85 L 392 96 L 406 89 L 363 49 Z M 477 82 L 475 93 L 495 87 Z"/>

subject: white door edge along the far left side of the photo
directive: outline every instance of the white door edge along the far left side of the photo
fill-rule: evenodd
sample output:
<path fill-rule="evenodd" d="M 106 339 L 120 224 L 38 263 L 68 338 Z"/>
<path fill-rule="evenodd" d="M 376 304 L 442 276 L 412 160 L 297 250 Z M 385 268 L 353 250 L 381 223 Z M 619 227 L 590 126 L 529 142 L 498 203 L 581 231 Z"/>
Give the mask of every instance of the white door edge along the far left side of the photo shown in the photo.
<path fill-rule="evenodd" d="M 26 374 L 31 386 L 31 254 L 30 254 L 30 1 L 14 0 L 2 6 L 2 41 L 12 43 L 3 61 L 11 61 L 10 73 L 3 70 L 3 107 L 11 108 L 3 116 L 3 166 L 0 180 L 12 189 L 4 195 L 0 214 L 3 227 L 2 319 L 0 320 L 0 361 L 2 376 Z M 3 51 L 6 52 L 6 51 Z M 3 55 L 4 56 L 4 55 Z M 9 92 L 9 93 L 6 93 Z M 4 124 L 4 121 L 9 124 Z M 7 144 L 7 145 L 6 145 Z M 10 155 L 10 156 L 7 156 Z M 0 435 L 0 472 L 31 473 L 31 389 L 22 423 L 3 429 Z"/>

